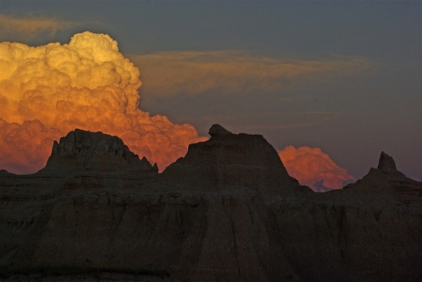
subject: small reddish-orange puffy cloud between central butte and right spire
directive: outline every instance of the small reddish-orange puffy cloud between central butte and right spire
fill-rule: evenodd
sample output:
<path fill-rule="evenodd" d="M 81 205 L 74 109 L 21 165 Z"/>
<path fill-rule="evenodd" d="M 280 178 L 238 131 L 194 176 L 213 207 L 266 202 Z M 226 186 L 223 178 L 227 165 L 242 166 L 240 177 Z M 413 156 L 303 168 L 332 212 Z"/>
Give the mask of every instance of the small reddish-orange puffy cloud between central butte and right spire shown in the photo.
<path fill-rule="evenodd" d="M 341 189 L 344 183 L 355 180 L 320 148 L 287 146 L 278 152 L 288 174 L 315 192 Z"/>

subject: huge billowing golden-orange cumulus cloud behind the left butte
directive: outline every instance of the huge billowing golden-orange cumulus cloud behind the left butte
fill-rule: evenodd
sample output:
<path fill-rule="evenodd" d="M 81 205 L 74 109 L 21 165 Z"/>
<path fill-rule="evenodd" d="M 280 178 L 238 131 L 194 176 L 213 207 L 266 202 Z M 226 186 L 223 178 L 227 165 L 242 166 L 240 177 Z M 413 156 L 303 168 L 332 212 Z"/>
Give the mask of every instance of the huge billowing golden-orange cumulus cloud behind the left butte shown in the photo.
<path fill-rule="evenodd" d="M 68 131 L 123 139 L 160 170 L 204 141 L 189 124 L 139 110 L 139 69 L 108 35 L 74 35 L 69 44 L 0 43 L 0 168 L 34 172 L 53 140 Z"/>

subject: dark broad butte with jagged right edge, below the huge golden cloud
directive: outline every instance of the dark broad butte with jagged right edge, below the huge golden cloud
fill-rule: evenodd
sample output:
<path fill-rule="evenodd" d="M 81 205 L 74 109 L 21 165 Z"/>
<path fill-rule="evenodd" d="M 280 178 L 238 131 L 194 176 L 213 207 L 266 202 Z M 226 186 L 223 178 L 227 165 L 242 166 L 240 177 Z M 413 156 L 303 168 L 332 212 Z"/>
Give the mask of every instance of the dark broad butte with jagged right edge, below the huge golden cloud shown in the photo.
<path fill-rule="evenodd" d="M 76 129 L 54 141 L 52 155 L 37 175 L 66 175 L 64 189 L 130 187 L 156 177 L 158 167 L 129 151 L 117 136 Z"/>

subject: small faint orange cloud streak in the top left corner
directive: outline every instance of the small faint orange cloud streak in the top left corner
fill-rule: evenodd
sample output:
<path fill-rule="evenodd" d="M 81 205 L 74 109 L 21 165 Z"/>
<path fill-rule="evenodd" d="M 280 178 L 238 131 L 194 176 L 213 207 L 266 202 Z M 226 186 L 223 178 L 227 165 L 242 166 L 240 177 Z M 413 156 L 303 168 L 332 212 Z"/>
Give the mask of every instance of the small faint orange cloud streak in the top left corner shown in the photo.
<path fill-rule="evenodd" d="M 15 17 L 0 14 L 0 28 L 2 33 L 22 33 L 34 37 L 37 33 L 50 33 L 53 35 L 57 30 L 66 30 L 79 25 L 69 20 L 59 20 L 48 17 Z"/>

